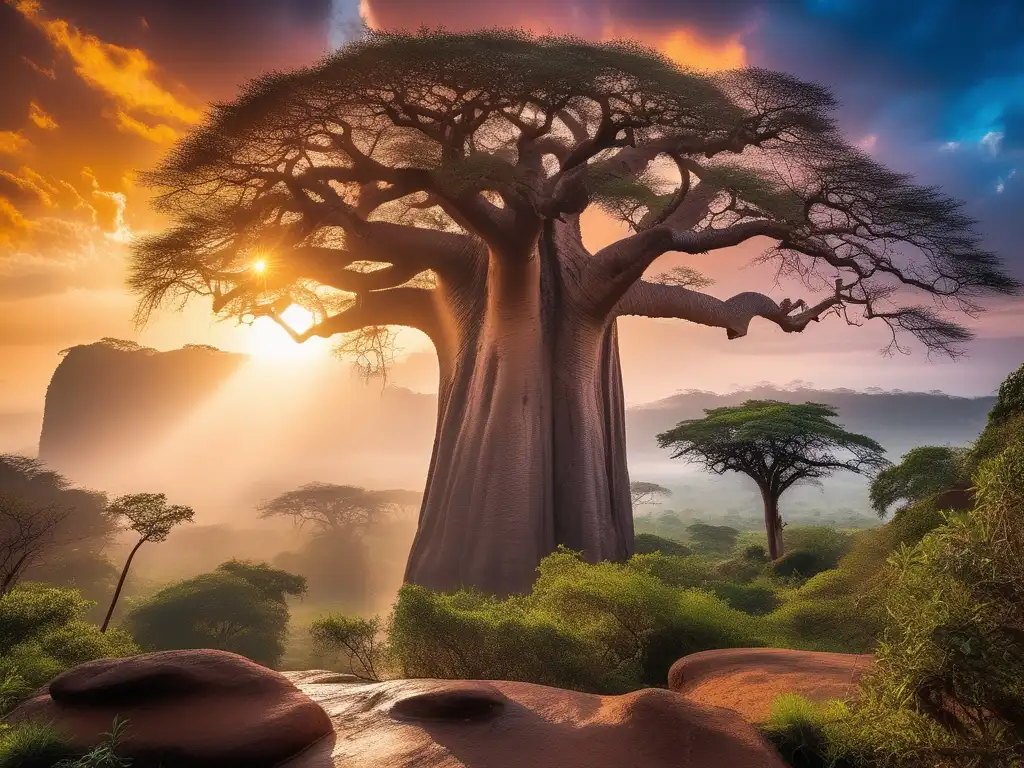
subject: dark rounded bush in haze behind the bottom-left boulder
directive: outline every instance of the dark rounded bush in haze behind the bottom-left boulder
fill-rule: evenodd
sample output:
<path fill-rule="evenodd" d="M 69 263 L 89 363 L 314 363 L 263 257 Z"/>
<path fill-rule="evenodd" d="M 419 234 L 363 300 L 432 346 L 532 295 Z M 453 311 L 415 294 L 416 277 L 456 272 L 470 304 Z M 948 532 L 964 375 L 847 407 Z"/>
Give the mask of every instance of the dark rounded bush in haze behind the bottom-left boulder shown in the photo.
<path fill-rule="evenodd" d="M 147 650 L 218 648 L 275 667 L 288 637 L 285 596 L 304 592 L 302 577 L 231 560 L 159 591 L 124 625 Z"/>

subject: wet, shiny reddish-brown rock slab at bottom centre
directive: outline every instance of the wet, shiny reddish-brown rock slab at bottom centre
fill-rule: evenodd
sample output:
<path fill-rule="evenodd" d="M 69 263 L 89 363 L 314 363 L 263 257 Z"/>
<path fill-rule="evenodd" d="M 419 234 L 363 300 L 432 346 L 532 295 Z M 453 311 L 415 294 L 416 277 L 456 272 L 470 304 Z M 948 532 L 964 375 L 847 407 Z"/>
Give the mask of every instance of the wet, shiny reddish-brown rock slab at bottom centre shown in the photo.
<path fill-rule="evenodd" d="M 335 737 L 282 768 L 783 768 L 735 713 L 671 691 L 511 682 L 300 685 Z"/>

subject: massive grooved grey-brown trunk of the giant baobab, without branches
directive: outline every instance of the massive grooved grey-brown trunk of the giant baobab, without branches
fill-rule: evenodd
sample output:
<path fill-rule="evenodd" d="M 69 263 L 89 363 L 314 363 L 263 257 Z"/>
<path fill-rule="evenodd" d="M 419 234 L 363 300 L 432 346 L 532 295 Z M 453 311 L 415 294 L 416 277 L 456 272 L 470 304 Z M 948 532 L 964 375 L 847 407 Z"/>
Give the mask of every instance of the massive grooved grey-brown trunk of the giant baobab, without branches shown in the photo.
<path fill-rule="evenodd" d="M 582 248 L 549 224 L 522 263 L 492 256 L 485 298 L 453 312 L 407 582 L 508 595 L 559 545 L 632 554 L 617 336 L 566 280 Z"/>

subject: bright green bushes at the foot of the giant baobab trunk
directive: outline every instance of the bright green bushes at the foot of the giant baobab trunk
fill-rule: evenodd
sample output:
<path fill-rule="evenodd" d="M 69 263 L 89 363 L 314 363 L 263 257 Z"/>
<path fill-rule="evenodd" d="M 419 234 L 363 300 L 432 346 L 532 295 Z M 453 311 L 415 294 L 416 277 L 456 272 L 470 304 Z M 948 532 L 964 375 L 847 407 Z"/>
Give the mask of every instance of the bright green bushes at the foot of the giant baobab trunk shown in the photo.
<path fill-rule="evenodd" d="M 387 625 L 331 616 L 314 644 L 340 652 L 346 670 L 374 667 L 401 677 L 522 680 L 622 692 L 664 686 L 669 667 L 699 650 L 768 644 L 773 597 L 751 588 L 725 600 L 695 589 L 713 568 L 700 558 L 638 555 L 591 565 L 559 551 L 541 563 L 534 591 L 500 600 L 473 592 L 401 589 Z M 727 600 L 746 603 L 748 612 Z M 377 651 L 368 641 L 386 632 Z"/>

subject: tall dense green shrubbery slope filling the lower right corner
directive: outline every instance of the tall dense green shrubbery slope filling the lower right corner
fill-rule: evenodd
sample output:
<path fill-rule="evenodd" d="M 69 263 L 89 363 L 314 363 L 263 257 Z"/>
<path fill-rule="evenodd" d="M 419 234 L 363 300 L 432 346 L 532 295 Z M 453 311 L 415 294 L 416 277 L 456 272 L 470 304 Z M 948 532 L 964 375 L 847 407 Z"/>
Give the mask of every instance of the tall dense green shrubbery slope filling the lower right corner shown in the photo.
<path fill-rule="evenodd" d="M 783 751 L 806 745 L 818 762 L 805 765 L 1024 762 L 1024 434 L 975 483 L 973 510 L 890 558 L 885 630 L 859 695 L 766 726 Z M 818 596 L 828 587 L 809 586 Z"/>

